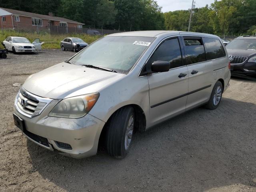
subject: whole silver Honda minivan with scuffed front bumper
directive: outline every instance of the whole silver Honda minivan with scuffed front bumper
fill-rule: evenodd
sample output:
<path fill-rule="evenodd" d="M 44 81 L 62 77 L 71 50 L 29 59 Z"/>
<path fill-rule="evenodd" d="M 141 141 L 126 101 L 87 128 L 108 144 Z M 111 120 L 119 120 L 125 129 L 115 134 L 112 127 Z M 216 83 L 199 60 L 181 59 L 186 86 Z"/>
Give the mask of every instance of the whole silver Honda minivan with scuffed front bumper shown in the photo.
<path fill-rule="evenodd" d="M 136 130 L 198 106 L 217 108 L 229 80 L 218 36 L 111 34 L 29 76 L 15 99 L 14 122 L 28 139 L 66 156 L 95 155 L 101 141 L 124 158 Z"/>

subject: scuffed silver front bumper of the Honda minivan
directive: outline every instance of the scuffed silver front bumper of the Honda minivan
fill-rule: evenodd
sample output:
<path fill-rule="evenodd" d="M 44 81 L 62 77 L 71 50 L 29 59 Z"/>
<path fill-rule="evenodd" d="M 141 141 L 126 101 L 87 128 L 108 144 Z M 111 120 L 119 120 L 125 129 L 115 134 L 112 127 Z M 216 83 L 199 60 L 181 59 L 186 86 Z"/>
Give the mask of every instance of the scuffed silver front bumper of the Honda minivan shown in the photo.
<path fill-rule="evenodd" d="M 64 156 L 84 158 L 95 155 L 105 122 L 90 114 L 78 119 L 48 116 L 56 103 L 57 101 L 52 100 L 39 116 L 33 118 L 22 115 L 14 106 L 14 114 L 24 120 L 26 137 Z M 68 144 L 71 148 L 63 144 Z"/>

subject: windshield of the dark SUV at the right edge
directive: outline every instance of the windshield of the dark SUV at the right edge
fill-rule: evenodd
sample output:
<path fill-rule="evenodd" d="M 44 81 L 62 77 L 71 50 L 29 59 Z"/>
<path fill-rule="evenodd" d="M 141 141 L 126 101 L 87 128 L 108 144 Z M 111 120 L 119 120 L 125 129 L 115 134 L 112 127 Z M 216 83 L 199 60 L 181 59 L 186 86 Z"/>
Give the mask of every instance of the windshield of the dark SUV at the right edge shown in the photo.
<path fill-rule="evenodd" d="M 254 49 L 256 50 L 256 39 L 235 39 L 226 45 L 227 49 Z"/>

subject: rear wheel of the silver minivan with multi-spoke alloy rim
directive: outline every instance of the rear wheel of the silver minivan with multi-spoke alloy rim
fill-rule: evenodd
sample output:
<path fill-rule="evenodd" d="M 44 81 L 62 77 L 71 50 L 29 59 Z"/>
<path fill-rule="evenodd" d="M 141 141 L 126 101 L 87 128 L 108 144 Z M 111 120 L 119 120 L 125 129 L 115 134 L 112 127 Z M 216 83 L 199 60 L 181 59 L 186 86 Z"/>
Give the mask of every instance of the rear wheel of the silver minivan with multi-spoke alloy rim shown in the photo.
<path fill-rule="evenodd" d="M 223 93 L 222 83 L 220 81 L 217 81 L 212 89 L 210 99 L 205 107 L 210 110 L 216 109 L 220 104 L 222 93 Z"/>

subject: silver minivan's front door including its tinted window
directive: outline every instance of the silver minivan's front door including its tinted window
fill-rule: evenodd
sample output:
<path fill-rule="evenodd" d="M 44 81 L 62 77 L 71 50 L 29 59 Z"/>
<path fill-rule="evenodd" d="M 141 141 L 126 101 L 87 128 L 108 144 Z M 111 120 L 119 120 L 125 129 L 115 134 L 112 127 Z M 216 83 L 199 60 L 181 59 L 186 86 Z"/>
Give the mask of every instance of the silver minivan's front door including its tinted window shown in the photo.
<path fill-rule="evenodd" d="M 164 40 L 148 62 L 157 60 L 170 62 L 170 70 L 148 76 L 150 126 L 184 112 L 188 93 L 188 68 L 182 62 L 178 38 Z"/>

